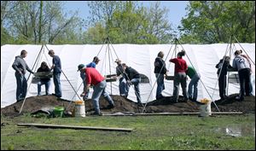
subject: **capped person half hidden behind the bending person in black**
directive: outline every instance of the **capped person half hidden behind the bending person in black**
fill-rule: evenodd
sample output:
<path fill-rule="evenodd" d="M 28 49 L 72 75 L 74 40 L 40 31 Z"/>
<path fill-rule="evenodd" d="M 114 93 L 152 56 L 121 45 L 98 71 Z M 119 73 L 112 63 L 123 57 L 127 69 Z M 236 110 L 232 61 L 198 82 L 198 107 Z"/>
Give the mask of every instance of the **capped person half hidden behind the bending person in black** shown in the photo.
<path fill-rule="evenodd" d="M 124 75 L 124 69 L 122 67 L 122 63 L 119 59 L 117 59 L 116 61 L 114 61 L 117 63 L 117 67 L 116 67 L 116 74 L 119 78 L 119 94 L 120 96 L 126 96 L 127 94 L 127 90 L 128 90 L 128 84 L 126 82 L 125 79 L 125 75 Z"/>

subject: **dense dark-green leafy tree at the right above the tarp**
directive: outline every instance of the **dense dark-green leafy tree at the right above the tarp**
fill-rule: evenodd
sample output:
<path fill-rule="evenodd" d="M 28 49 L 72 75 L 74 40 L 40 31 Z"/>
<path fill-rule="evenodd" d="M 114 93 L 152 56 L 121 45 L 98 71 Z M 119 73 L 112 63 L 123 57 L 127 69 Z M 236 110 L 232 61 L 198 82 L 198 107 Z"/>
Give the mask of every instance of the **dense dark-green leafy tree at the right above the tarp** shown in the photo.
<path fill-rule="evenodd" d="M 254 1 L 192 1 L 186 9 L 179 26 L 185 43 L 228 43 L 231 35 L 241 43 L 255 42 Z"/>

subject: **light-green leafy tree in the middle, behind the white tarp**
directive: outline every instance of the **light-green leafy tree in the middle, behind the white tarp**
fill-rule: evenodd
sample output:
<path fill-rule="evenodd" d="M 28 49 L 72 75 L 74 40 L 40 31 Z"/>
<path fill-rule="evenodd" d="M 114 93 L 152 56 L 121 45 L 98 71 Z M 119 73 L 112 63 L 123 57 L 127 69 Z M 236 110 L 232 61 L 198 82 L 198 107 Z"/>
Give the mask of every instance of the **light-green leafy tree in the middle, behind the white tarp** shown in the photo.
<path fill-rule="evenodd" d="M 160 3 L 151 9 L 133 1 L 97 1 L 88 5 L 90 24 L 101 24 L 115 44 L 164 44 L 172 38 L 171 25 L 166 20 L 168 10 L 160 9 Z"/>

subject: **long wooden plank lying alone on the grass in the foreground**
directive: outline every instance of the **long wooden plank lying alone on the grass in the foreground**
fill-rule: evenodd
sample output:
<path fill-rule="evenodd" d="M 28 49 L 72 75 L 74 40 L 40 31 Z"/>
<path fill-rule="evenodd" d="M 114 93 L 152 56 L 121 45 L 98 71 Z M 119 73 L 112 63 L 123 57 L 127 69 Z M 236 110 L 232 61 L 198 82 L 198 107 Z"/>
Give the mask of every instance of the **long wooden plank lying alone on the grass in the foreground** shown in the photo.
<path fill-rule="evenodd" d="M 35 126 L 35 127 L 39 127 L 39 128 L 100 130 L 100 131 L 126 131 L 126 132 L 131 132 L 133 130 L 133 129 L 125 129 L 125 128 L 78 126 L 78 125 L 44 125 L 44 124 L 17 124 L 17 125 L 18 126 Z"/>

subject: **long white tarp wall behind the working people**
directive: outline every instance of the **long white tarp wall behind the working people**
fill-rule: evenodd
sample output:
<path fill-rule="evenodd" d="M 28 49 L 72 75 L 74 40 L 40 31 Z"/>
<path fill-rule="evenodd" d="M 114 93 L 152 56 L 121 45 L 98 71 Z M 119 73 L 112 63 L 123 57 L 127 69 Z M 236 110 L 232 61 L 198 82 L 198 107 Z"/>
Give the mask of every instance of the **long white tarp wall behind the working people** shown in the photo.
<path fill-rule="evenodd" d="M 183 47 L 183 48 L 182 48 Z M 188 65 L 193 64 L 198 73 L 201 74 L 201 81 L 198 85 L 198 99 L 201 98 L 211 98 L 217 100 L 218 96 L 218 75 L 217 68 L 215 65 L 218 61 L 223 58 L 227 51 L 227 55 L 231 56 L 230 64 L 234 58 L 234 52 L 236 49 L 246 50 L 247 55 L 251 57 L 253 62 L 255 62 L 255 44 L 183 44 L 177 45 L 177 52 L 184 49 L 187 53 L 183 58 L 187 61 Z M 172 48 L 172 49 L 171 49 Z M 20 55 L 22 49 L 26 49 L 28 55 L 25 61 L 34 72 L 38 70 L 42 61 L 46 61 L 49 66 L 52 65 L 52 58 L 48 55 L 49 49 L 55 50 L 55 55 L 59 55 L 61 58 L 62 71 L 67 75 L 68 80 L 73 85 L 75 90 L 79 89 L 79 85 L 82 84 L 82 80 L 79 76 L 78 65 L 83 63 L 84 65 L 90 63 L 94 56 L 98 53 L 100 58 L 99 64 L 96 69 L 102 73 L 102 75 L 108 75 L 115 73 L 116 63 L 114 63 L 117 56 L 122 62 L 125 62 L 129 67 L 135 68 L 139 73 L 143 73 L 148 76 L 149 84 L 140 84 L 140 91 L 143 102 L 150 102 L 155 99 L 156 84 L 154 75 L 154 59 L 159 53 L 163 51 L 165 53 L 164 60 L 166 60 L 166 67 L 170 71 L 168 74 L 173 75 L 174 66 L 169 62 L 171 58 L 174 57 L 174 44 L 104 44 L 104 45 L 3 45 L 1 46 L 1 107 L 9 106 L 16 102 L 16 79 L 15 70 L 12 68 L 12 64 L 15 61 L 15 56 Z M 40 55 L 37 62 L 38 53 L 42 49 L 42 54 Z M 101 50 L 101 51 L 100 51 Z M 169 55 L 168 55 L 169 52 Z M 243 52 L 243 54 L 245 54 Z M 168 56 L 167 56 L 168 55 Z M 167 57 L 167 59 L 166 59 Z M 191 61 L 191 62 L 190 62 Z M 33 65 L 35 65 L 34 68 Z M 252 63 L 253 65 L 253 63 Z M 110 69 L 109 69 L 110 67 Z M 253 65 L 253 95 L 255 96 L 255 66 Z M 237 73 L 237 72 L 236 72 Z M 234 73 L 230 73 L 234 74 Z M 26 78 L 28 78 L 29 73 L 26 72 Z M 62 98 L 67 100 L 78 100 L 78 96 L 72 86 L 68 83 L 67 78 L 61 74 L 61 90 Z M 190 80 L 190 79 L 189 79 Z M 188 84 L 189 84 L 188 80 Z M 28 90 L 26 97 L 37 96 L 37 84 L 31 84 L 32 75 L 28 79 Z M 204 88 L 203 84 L 206 86 L 207 90 Z M 108 83 L 107 91 L 113 95 L 119 95 L 119 82 Z M 154 89 L 152 90 L 154 85 Z M 164 96 L 172 96 L 173 81 L 165 80 L 166 90 L 164 90 Z M 216 86 L 216 90 L 214 90 Z M 81 94 L 83 86 L 80 87 L 78 94 Z M 149 96 L 152 90 L 151 95 Z M 91 92 L 90 90 L 90 96 Z M 54 93 L 54 84 L 51 78 L 51 85 L 49 89 L 50 93 Z M 179 90 L 180 95 L 182 90 Z M 229 84 L 228 95 L 239 93 L 239 84 Z M 42 94 L 45 94 L 44 85 L 42 86 Z M 129 99 L 137 102 L 135 92 L 131 88 L 129 92 Z"/>

